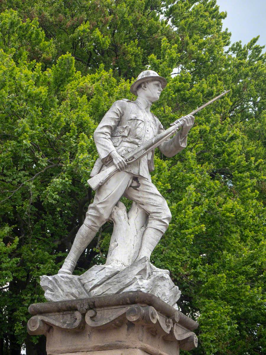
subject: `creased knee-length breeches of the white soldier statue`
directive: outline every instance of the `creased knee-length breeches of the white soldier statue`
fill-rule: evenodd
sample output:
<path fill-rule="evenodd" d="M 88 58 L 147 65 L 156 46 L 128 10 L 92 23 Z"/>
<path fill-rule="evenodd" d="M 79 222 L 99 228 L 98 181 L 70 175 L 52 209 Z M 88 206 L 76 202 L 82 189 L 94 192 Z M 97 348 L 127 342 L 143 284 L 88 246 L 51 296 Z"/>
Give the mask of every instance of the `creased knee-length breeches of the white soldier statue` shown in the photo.
<path fill-rule="evenodd" d="M 143 176 L 118 171 L 96 190 L 94 201 L 89 205 L 84 224 L 96 234 L 110 217 L 113 207 L 122 196 L 135 201 L 148 214 L 147 227 L 165 233 L 171 212 L 153 183 Z"/>

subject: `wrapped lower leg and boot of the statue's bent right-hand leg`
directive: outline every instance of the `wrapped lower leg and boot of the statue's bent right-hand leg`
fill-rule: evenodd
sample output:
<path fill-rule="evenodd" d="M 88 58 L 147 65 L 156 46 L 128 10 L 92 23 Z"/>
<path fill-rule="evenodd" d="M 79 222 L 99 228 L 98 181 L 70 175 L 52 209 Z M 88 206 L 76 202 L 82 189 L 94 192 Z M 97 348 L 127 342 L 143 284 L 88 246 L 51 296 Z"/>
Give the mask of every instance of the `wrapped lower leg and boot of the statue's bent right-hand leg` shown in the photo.
<path fill-rule="evenodd" d="M 142 259 L 144 256 L 150 259 L 151 253 L 153 252 L 154 248 L 158 244 L 159 240 L 162 237 L 162 232 L 159 229 L 148 227 L 144 230 L 142 236 L 142 242 L 139 249 L 139 254 L 135 260 L 138 261 Z M 162 272 L 164 274 L 170 274 L 168 270 L 159 269 L 151 264 L 151 271 L 154 272 Z"/>

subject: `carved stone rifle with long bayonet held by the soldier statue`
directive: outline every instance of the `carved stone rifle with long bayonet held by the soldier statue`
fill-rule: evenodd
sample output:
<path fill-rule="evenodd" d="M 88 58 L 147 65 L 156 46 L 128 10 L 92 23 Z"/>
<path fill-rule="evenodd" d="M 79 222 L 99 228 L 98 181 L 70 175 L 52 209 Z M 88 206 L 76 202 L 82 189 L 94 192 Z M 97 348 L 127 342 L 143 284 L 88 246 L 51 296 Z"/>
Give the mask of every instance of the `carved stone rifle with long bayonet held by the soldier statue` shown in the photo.
<path fill-rule="evenodd" d="M 222 94 L 216 96 L 214 99 L 210 100 L 206 104 L 200 106 L 196 110 L 190 112 L 189 115 L 194 115 L 200 110 L 204 109 L 206 106 L 212 104 L 216 100 L 220 99 L 223 95 L 227 94 L 230 90 L 223 92 Z M 182 128 L 184 122 L 180 122 L 179 120 L 174 121 L 170 127 L 164 132 L 160 133 L 154 138 L 149 139 L 144 142 L 141 146 L 135 148 L 133 151 L 126 153 L 123 158 L 126 161 L 127 165 L 135 162 L 138 159 L 144 157 L 144 155 L 148 154 L 150 151 L 153 151 L 157 148 L 161 143 L 166 141 L 169 137 L 173 136 L 180 128 Z M 101 171 L 99 174 L 93 176 L 93 178 L 89 179 L 87 182 L 93 190 L 98 189 L 99 186 L 105 183 L 113 174 L 119 171 L 115 165 L 109 166 L 109 168 Z"/>

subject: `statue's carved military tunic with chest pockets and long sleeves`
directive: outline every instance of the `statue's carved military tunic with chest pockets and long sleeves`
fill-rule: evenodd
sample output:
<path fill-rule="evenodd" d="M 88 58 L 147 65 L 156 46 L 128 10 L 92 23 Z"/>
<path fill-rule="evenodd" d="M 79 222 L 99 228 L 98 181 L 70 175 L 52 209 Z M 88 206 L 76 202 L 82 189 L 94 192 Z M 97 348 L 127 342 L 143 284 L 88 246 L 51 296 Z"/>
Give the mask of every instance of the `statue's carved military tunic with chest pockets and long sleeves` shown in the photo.
<path fill-rule="evenodd" d="M 96 161 L 91 176 L 104 170 L 104 165 L 112 164 L 110 153 L 115 149 L 123 156 L 164 131 L 158 118 L 145 109 L 147 105 L 146 100 L 140 97 L 134 102 L 123 99 L 113 103 L 94 132 L 94 141 L 100 158 Z M 186 146 L 187 137 L 182 139 L 178 132 L 172 139 L 162 143 L 159 149 L 167 157 L 172 157 Z M 154 151 L 128 164 L 124 169 L 148 180 L 151 180 L 150 171 L 153 170 Z"/>

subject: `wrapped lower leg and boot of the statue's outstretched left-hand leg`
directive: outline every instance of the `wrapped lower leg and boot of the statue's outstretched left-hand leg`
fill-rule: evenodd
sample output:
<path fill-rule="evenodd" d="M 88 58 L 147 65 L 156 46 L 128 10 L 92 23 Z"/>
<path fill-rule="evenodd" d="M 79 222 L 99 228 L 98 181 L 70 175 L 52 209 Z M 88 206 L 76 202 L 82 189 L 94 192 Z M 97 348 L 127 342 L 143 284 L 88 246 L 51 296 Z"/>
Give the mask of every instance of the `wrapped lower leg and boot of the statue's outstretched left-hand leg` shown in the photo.
<path fill-rule="evenodd" d="M 93 240 L 96 233 L 92 232 L 85 224 L 79 228 L 74 239 L 68 256 L 66 257 L 63 266 L 59 270 L 59 274 L 72 275 L 77 261 L 89 243 Z"/>

